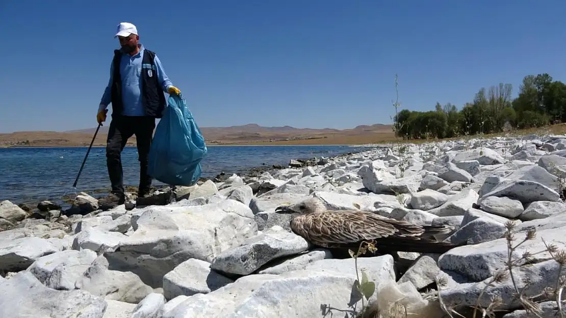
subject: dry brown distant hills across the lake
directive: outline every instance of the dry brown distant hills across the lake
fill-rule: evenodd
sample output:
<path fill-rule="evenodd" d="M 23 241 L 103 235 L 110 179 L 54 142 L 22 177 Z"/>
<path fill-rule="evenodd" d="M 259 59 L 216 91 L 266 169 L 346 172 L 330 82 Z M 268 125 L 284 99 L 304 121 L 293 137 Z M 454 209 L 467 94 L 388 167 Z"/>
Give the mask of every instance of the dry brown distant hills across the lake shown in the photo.
<path fill-rule="evenodd" d="M 88 146 L 96 128 L 68 130 L 65 132 L 14 132 L 0 134 L 0 146 Z M 258 124 L 235 125 L 230 127 L 200 127 L 207 144 L 241 143 L 368 143 L 383 138 L 391 139 L 391 125 L 358 125 L 350 129 L 295 128 L 291 126 L 263 127 Z M 108 124 L 98 132 L 95 145 L 104 146 Z M 135 138 L 128 141 L 135 145 Z"/>

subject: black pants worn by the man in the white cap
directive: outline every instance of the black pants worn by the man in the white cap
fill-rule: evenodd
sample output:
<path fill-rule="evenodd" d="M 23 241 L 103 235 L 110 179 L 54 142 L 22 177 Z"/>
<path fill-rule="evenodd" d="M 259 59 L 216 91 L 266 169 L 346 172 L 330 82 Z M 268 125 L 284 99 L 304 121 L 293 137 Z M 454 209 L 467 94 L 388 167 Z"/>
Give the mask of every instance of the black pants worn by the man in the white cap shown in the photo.
<path fill-rule="evenodd" d="M 155 118 L 149 116 L 116 116 L 110 122 L 106 140 L 106 166 L 112 184 L 112 192 L 124 194 L 122 173 L 122 150 L 128 138 L 136 136 L 138 160 L 140 162 L 139 191 L 146 192 L 151 186 L 151 176 L 147 174 L 149 147 L 155 129 Z"/>

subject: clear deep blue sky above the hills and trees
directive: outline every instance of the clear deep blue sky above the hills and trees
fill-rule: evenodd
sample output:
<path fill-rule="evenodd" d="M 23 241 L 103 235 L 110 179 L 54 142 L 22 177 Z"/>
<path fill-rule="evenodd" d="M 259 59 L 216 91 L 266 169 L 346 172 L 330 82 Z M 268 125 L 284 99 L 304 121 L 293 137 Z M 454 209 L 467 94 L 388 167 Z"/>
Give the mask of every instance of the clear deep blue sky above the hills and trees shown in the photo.
<path fill-rule="evenodd" d="M 96 127 L 121 21 L 160 57 L 203 127 L 351 128 L 460 108 L 525 75 L 566 80 L 566 2 L 0 2 L 0 132 Z M 109 123 L 109 121 L 107 121 Z"/>

